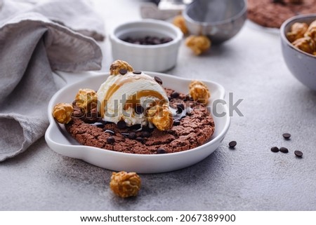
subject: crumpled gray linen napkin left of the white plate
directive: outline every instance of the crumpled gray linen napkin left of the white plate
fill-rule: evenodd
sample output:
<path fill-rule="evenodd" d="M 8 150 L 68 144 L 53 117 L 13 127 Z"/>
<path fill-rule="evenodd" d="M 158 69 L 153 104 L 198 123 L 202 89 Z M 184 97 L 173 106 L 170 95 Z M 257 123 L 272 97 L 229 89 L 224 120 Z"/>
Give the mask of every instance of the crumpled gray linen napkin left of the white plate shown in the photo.
<path fill-rule="evenodd" d="M 85 1 L 23 4 L 0 0 L 0 161 L 44 135 L 53 70 L 101 68 L 98 43 L 82 34 L 103 39 L 103 21 Z"/>

